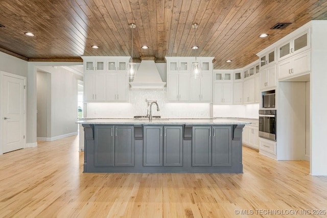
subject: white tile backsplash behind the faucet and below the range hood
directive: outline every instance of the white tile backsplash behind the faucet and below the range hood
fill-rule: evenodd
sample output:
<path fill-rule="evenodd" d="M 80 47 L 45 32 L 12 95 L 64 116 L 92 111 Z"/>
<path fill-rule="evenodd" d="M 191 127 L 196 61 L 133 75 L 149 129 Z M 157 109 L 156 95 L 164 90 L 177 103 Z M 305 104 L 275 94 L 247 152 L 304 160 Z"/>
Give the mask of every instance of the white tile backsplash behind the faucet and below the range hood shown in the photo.
<path fill-rule="evenodd" d="M 135 115 L 146 115 L 148 101 L 157 101 L 152 105 L 152 115 L 166 118 L 207 118 L 210 117 L 209 103 L 169 103 L 166 89 L 129 91 L 129 103 L 87 103 L 87 117 L 132 118 Z"/>

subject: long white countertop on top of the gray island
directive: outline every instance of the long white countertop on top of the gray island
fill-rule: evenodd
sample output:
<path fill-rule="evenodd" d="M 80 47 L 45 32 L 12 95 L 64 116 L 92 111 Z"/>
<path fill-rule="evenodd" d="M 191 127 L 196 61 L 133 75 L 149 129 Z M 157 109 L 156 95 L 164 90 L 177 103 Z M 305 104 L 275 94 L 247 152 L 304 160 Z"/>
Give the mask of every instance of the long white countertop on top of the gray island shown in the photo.
<path fill-rule="evenodd" d="M 235 119 L 169 119 L 154 118 L 150 122 L 148 119 L 85 119 L 76 122 L 78 124 L 121 124 L 121 125 L 249 125 L 251 122 L 245 122 Z"/>

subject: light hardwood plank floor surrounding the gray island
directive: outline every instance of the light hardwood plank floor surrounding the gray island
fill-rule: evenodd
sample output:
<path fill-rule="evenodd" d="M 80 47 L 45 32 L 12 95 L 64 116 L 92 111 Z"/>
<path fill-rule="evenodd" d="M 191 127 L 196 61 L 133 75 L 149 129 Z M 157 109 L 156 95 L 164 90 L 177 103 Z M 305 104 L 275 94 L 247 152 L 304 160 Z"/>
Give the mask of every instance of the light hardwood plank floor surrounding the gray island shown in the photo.
<path fill-rule="evenodd" d="M 327 177 L 307 161 L 243 147 L 244 174 L 83 174 L 83 155 L 77 136 L 0 155 L 0 217 L 327 216 L 312 215 L 327 210 Z"/>

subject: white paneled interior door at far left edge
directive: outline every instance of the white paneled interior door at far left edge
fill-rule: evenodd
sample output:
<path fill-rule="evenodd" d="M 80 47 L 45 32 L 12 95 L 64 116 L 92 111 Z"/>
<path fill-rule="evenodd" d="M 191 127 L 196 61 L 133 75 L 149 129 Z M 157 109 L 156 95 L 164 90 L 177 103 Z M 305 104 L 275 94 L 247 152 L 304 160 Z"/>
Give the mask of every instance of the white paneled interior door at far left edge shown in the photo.
<path fill-rule="evenodd" d="M 24 148 L 25 79 L 2 74 L 2 146 L 3 153 Z"/>

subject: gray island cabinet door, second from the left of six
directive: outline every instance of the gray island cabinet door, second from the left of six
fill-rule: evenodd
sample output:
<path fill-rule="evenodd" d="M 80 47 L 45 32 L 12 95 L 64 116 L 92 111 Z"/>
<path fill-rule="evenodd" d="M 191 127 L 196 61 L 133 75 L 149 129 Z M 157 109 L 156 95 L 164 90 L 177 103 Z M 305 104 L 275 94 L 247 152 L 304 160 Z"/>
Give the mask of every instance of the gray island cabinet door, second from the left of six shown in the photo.
<path fill-rule="evenodd" d="M 135 165 L 135 143 L 133 126 L 115 126 L 114 165 Z"/>

